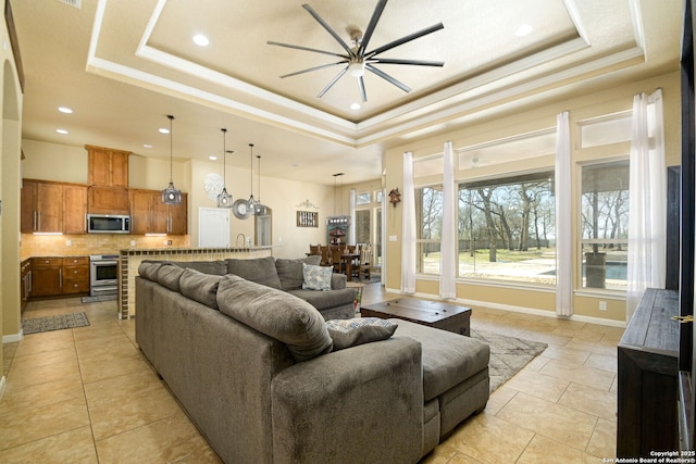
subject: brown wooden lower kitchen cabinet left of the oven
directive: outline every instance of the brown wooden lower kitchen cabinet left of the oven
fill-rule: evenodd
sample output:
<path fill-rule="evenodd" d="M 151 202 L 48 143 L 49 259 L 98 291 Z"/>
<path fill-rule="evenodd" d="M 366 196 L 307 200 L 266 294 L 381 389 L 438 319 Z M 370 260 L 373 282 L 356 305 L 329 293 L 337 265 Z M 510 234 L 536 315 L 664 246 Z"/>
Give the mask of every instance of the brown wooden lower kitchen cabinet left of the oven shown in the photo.
<path fill-rule="evenodd" d="M 33 258 L 30 297 L 89 293 L 89 258 Z"/>

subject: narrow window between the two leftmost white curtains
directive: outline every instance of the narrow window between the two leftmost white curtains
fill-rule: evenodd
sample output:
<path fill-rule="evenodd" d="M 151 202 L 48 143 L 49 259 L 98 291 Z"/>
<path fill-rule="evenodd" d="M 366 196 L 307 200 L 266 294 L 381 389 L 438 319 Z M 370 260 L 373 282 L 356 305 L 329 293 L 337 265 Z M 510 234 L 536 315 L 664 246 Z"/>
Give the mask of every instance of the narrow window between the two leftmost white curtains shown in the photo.
<path fill-rule="evenodd" d="M 417 272 L 439 275 L 440 237 L 443 226 L 442 186 L 415 189 Z"/>

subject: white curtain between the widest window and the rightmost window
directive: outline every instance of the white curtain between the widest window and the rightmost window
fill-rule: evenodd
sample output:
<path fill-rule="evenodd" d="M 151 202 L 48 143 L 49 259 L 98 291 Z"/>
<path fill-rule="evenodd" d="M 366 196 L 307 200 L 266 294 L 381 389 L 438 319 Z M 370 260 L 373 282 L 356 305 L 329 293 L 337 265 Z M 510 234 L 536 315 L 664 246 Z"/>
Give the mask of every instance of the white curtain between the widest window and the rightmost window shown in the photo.
<path fill-rule="evenodd" d="M 556 314 L 573 314 L 572 177 L 568 111 L 556 117 Z"/>

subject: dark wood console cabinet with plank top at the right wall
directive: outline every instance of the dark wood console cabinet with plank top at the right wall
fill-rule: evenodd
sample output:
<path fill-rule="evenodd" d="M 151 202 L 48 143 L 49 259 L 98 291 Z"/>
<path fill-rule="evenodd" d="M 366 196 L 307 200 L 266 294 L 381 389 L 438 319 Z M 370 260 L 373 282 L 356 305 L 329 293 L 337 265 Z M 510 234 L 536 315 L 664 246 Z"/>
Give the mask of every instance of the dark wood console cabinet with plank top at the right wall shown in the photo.
<path fill-rule="evenodd" d="M 619 457 L 679 449 L 678 314 L 678 291 L 648 289 L 619 342 Z"/>

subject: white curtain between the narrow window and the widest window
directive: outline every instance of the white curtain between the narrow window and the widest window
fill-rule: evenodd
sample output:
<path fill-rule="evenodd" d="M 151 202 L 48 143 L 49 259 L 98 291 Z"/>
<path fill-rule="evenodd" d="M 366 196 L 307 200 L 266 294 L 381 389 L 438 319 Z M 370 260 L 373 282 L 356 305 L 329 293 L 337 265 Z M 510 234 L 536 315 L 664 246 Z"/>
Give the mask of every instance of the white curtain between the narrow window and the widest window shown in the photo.
<path fill-rule="evenodd" d="M 440 234 L 440 298 L 457 298 L 457 225 L 455 223 L 455 165 L 452 142 L 445 142 L 443 158 L 443 230 Z"/>

